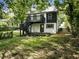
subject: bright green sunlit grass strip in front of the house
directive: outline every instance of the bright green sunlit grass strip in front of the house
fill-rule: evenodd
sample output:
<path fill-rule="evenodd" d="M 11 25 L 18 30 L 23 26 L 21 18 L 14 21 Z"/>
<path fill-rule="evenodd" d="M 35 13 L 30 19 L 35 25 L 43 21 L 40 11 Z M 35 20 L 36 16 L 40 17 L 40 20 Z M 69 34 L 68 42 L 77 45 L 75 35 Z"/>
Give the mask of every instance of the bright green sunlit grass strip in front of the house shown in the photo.
<path fill-rule="evenodd" d="M 49 38 L 46 36 L 37 36 L 37 37 L 13 37 L 10 39 L 0 40 L 0 49 L 10 49 L 17 46 L 24 47 L 41 47 L 42 44 L 47 43 L 48 41 L 57 40 L 56 38 Z"/>

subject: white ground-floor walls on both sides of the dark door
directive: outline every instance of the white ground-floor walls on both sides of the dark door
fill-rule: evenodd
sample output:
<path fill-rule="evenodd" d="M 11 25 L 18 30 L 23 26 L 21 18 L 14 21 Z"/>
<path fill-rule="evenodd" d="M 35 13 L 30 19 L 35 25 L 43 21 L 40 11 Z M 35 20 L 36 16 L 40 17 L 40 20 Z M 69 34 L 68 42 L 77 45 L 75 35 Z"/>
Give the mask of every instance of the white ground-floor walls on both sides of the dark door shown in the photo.
<path fill-rule="evenodd" d="M 54 27 L 52 28 L 46 28 L 46 25 L 47 24 L 53 24 Z M 32 24 L 32 27 L 31 27 L 31 32 L 32 33 L 41 33 L 40 32 L 40 24 Z M 56 33 L 57 32 L 57 25 L 56 23 L 45 23 L 44 24 L 44 32 L 43 33 Z"/>

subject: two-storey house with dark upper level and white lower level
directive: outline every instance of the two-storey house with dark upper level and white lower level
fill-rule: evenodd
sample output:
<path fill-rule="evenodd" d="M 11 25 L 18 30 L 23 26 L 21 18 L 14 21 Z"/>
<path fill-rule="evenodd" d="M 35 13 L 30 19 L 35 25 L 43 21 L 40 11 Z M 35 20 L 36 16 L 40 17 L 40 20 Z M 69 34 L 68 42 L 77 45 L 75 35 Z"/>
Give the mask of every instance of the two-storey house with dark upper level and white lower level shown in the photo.
<path fill-rule="evenodd" d="M 41 12 L 31 11 L 28 14 L 26 23 L 29 33 L 50 33 L 55 34 L 58 31 L 57 9 L 50 6 Z"/>

